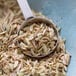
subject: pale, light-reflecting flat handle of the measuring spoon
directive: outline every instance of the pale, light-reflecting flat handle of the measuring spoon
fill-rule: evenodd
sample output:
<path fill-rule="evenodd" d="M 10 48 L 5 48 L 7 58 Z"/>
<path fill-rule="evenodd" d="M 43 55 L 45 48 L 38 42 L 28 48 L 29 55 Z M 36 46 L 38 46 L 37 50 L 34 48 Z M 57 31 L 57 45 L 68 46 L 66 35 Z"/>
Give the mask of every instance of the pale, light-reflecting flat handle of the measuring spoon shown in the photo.
<path fill-rule="evenodd" d="M 27 0 L 17 0 L 17 2 L 26 20 L 34 17 Z"/>

